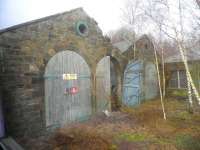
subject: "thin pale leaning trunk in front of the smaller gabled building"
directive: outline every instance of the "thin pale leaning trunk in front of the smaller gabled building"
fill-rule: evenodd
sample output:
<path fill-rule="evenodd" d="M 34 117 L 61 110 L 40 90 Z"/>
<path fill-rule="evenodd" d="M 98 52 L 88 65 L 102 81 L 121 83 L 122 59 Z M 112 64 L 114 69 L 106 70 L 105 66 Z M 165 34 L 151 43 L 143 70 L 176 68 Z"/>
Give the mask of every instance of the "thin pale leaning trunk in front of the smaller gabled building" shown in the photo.
<path fill-rule="evenodd" d="M 160 91 L 160 101 L 162 105 L 162 111 L 163 111 L 163 118 L 166 120 L 166 113 L 165 113 L 165 107 L 164 107 L 164 102 L 163 102 L 163 95 L 162 95 L 162 88 L 161 88 L 161 82 L 160 82 L 160 72 L 159 72 L 159 66 L 158 66 L 158 56 L 157 52 L 154 49 L 154 55 L 155 55 L 155 60 L 156 60 L 156 70 L 157 70 L 157 76 L 158 76 L 158 85 L 159 85 L 159 91 Z"/>

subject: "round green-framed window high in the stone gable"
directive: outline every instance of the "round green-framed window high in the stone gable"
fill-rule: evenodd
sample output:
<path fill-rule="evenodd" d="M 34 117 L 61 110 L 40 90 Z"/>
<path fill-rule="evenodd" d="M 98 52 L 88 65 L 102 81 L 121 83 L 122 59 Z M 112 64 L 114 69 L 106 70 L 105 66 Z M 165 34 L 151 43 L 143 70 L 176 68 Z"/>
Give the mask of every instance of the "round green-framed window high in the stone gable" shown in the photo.
<path fill-rule="evenodd" d="M 81 36 L 87 36 L 88 35 L 88 26 L 86 22 L 79 21 L 76 24 L 76 31 Z"/>

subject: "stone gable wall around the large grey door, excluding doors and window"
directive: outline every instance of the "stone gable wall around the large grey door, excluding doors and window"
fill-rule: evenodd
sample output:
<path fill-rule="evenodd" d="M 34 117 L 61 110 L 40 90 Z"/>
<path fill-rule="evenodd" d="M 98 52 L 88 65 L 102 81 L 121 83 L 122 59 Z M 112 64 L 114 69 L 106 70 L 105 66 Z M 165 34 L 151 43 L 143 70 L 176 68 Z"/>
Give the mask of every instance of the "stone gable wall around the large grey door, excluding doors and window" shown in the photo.
<path fill-rule="evenodd" d="M 78 21 L 87 23 L 86 36 L 77 34 Z M 92 75 L 106 55 L 115 57 L 122 68 L 125 62 L 81 8 L 1 31 L 1 83 L 8 134 L 36 136 L 46 131 L 43 75 L 49 59 L 63 50 L 83 56 Z"/>

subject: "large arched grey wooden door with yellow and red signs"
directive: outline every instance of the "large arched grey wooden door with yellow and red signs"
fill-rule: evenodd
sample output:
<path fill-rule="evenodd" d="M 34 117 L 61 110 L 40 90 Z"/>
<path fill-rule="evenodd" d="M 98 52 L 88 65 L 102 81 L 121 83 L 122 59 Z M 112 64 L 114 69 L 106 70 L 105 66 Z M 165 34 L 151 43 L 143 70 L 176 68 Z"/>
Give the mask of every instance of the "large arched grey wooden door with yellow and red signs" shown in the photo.
<path fill-rule="evenodd" d="M 53 56 L 45 70 L 46 125 L 63 125 L 91 115 L 90 69 L 75 52 Z"/>

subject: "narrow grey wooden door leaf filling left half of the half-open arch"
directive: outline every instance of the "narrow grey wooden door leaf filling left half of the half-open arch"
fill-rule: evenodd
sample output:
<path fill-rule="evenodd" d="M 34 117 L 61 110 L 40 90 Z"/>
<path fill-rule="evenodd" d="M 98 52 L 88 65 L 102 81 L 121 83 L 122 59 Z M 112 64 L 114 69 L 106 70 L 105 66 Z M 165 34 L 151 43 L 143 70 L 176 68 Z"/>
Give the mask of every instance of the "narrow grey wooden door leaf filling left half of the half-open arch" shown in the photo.
<path fill-rule="evenodd" d="M 110 56 L 100 60 L 96 69 L 97 112 L 110 110 Z"/>

